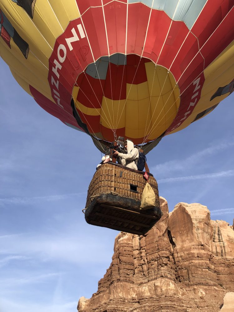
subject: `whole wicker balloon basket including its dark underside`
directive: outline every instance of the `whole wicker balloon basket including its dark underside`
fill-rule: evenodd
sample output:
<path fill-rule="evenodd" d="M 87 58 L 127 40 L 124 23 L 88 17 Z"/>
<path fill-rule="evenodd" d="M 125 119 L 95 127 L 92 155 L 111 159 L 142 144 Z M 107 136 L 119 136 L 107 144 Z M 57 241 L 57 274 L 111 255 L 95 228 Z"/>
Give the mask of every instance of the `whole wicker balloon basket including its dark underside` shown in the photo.
<path fill-rule="evenodd" d="M 160 219 L 158 185 L 152 174 L 148 183 L 154 190 L 155 207 L 140 210 L 146 180 L 144 172 L 115 163 L 105 163 L 90 182 L 85 206 L 89 224 L 133 234 L 145 234 Z"/>

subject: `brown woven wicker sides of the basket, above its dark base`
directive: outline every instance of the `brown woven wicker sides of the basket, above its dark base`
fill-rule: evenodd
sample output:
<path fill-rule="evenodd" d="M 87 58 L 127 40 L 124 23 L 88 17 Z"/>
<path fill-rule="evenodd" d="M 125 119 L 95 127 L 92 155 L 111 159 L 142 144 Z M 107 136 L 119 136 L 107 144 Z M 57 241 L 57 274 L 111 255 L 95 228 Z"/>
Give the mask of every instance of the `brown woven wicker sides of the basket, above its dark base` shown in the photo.
<path fill-rule="evenodd" d="M 100 194 L 111 193 L 141 201 L 142 192 L 147 182 L 143 175 L 144 172 L 142 171 L 129 169 L 118 164 L 105 163 L 101 165 L 90 182 L 85 208 Z M 155 205 L 159 207 L 158 184 L 151 174 L 148 183 L 156 196 Z"/>

